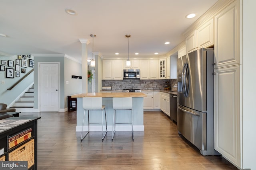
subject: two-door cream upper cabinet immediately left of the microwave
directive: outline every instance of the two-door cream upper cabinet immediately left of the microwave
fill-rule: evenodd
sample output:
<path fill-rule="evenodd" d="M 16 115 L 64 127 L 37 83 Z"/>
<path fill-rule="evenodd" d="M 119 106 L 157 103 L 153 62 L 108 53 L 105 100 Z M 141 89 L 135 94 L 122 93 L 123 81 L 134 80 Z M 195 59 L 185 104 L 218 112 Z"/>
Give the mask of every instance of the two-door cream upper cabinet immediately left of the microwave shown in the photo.
<path fill-rule="evenodd" d="M 123 80 L 122 60 L 103 60 L 102 67 L 103 80 Z"/>

